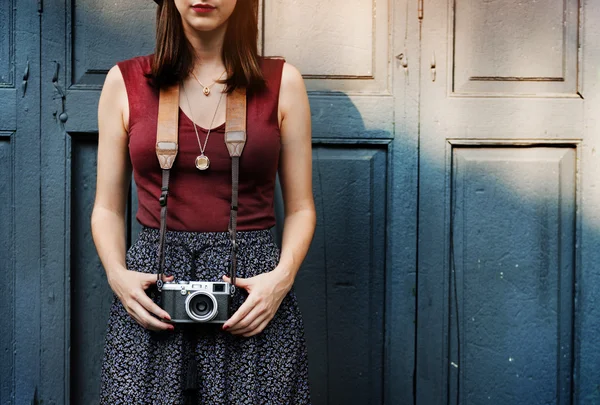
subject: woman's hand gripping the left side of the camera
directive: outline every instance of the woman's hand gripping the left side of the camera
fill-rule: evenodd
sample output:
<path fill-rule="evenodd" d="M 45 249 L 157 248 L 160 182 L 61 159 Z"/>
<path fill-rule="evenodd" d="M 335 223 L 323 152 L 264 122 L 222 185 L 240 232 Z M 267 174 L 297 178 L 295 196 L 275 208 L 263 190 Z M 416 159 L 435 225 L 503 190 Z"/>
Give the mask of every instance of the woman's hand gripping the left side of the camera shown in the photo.
<path fill-rule="evenodd" d="M 142 327 L 154 331 L 173 330 L 173 325 L 151 315 L 171 320 L 169 314 L 146 294 L 148 287 L 156 284 L 156 280 L 156 274 L 124 269 L 112 272 L 108 283 L 129 315 Z M 165 277 L 164 281 L 173 281 L 173 276 Z"/>

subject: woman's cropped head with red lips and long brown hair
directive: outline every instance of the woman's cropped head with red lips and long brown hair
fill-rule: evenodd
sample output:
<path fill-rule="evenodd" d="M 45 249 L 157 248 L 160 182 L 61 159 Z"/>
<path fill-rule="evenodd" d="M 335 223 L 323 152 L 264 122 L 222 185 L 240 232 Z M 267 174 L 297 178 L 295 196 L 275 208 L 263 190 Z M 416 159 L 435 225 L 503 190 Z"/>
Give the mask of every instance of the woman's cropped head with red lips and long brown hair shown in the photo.
<path fill-rule="evenodd" d="M 258 0 L 155 0 L 156 49 L 152 79 L 158 87 L 181 82 L 196 60 L 187 35 L 225 30 L 222 58 L 227 91 L 264 87 L 258 58 Z"/>

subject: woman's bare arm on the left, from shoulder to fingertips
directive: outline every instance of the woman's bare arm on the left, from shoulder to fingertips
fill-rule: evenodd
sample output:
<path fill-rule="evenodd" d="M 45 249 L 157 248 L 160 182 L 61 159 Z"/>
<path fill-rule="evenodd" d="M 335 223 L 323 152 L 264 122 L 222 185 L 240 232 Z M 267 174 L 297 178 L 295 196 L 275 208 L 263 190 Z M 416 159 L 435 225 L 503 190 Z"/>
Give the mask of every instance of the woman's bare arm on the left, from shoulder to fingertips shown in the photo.
<path fill-rule="evenodd" d="M 127 312 L 143 327 L 172 329 L 150 315 L 169 315 L 146 295 L 156 275 L 130 271 L 125 263 L 125 207 L 131 178 L 127 92 L 118 67 L 106 76 L 98 105 L 98 171 L 92 236 L 108 282 Z"/>

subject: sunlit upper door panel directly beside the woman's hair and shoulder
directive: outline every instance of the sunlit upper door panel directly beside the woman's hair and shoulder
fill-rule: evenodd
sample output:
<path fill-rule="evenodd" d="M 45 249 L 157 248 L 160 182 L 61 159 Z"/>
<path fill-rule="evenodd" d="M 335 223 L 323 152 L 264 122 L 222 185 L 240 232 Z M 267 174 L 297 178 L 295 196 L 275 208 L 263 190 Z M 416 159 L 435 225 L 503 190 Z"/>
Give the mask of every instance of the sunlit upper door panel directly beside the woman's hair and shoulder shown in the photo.
<path fill-rule="evenodd" d="M 263 50 L 284 55 L 308 89 L 389 92 L 389 2 L 264 2 Z M 332 18 L 335 16 L 335 18 Z"/>

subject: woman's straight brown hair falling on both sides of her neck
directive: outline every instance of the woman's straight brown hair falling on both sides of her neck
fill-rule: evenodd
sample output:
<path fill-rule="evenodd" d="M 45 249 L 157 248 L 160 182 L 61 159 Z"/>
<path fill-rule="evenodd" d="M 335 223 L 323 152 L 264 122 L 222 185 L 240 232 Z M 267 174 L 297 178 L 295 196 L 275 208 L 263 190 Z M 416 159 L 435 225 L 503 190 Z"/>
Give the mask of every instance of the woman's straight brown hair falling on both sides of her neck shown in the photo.
<path fill-rule="evenodd" d="M 246 87 L 262 90 L 265 79 L 258 57 L 258 0 L 238 0 L 229 17 L 223 44 L 227 70 L 227 92 Z M 156 49 L 148 77 L 156 87 L 183 81 L 194 67 L 194 50 L 183 32 L 183 23 L 173 0 L 158 2 Z"/>

